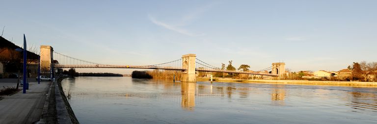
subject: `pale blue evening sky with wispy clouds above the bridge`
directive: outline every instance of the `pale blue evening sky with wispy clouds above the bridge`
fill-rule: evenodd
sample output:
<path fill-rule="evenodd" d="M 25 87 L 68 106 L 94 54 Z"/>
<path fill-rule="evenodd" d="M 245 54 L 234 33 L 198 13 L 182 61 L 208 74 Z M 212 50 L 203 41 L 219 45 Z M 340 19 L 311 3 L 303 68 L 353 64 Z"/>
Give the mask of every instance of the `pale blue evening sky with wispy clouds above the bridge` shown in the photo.
<path fill-rule="evenodd" d="M 149 65 L 195 53 L 251 70 L 377 61 L 376 0 L 5 0 L 3 37 L 88 61 Z M 90 70 L 97 72 L 98 70 Z M 114 70 L 108 70 L 114 71 Z M 114 72 L 128 74 L 129 70 Z"/>

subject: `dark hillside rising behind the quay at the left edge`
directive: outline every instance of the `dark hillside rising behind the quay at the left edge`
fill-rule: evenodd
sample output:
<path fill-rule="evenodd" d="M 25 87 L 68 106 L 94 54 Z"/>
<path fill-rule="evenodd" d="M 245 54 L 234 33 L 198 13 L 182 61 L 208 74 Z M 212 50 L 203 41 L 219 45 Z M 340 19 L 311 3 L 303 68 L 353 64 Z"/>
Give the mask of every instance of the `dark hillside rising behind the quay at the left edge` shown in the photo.
<path fill-rule="evenodd" d="M 16 50 L 17 48 L 22 49 L 21 47 L 13 44 L 12 42 L 6 40 L 5 38 L 0 36 L 0 54 L 2 50 L 10 49 L 10 50 Z M 38 54 L 35 54 L 33 52 L 27 51 L 27 58 L 28 59 L 38 59 Z"/>

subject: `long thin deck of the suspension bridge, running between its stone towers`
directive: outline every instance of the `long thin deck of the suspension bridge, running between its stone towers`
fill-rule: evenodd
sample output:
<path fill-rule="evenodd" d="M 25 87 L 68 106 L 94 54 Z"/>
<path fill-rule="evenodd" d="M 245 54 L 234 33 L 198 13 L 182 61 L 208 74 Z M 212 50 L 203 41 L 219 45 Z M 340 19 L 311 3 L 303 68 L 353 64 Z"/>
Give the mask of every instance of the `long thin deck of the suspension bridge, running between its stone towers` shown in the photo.
<path fill-rule="evenodd" d="M 186 70 L 181 67 L 129 66 L 129 65 L 55 65 L 54 67 L 55 68 L 108 68 L 108 69 L 162 69 L 162 70 L 177 70 L 177 71 Z M 202 69 L 202 68 L 195 68 L 195 70 L 201 71 L 201 72 L 220 72 L 220 73 L 278 76 L 277 74 L 259 73 L 259 72 L 239 72 L 239 71 Z"/>

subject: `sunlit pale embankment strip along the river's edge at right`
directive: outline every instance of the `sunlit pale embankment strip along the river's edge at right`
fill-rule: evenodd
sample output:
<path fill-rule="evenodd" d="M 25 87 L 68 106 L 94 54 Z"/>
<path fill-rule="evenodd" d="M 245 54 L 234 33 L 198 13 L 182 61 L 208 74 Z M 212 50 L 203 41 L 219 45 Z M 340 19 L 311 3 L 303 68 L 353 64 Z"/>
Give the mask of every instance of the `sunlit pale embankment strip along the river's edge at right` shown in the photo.
<path fill-rule="evenodd" d="M 197 78 L 197 81 L 209 81 L 210 78 Z M 352 86 L 352 87 L 377 87 L 377 82 L 357 81 L 309 81 L 309 80 L 247 80 L 231 78 L 214 78 L 215 82 L 237 82 L 237 83 L 269 83 L 269 84 L 291 84 L 291 85 L 326 85 L 326 86 Z"/>

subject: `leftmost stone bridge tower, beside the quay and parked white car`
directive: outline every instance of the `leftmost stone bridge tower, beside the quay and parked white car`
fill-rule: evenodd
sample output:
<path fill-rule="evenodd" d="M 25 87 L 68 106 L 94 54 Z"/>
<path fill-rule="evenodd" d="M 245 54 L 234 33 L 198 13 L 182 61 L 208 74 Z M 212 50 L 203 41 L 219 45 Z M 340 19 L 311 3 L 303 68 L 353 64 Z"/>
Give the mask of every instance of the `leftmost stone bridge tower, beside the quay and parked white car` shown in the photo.
<path fill-rule="evenodd" d="M 40 50 L 40 63 L 41 63 L 41 74 L 50 75 L 53 77 L 54 71 L 54 49 L 51 46 L 41 46 Z"/>

